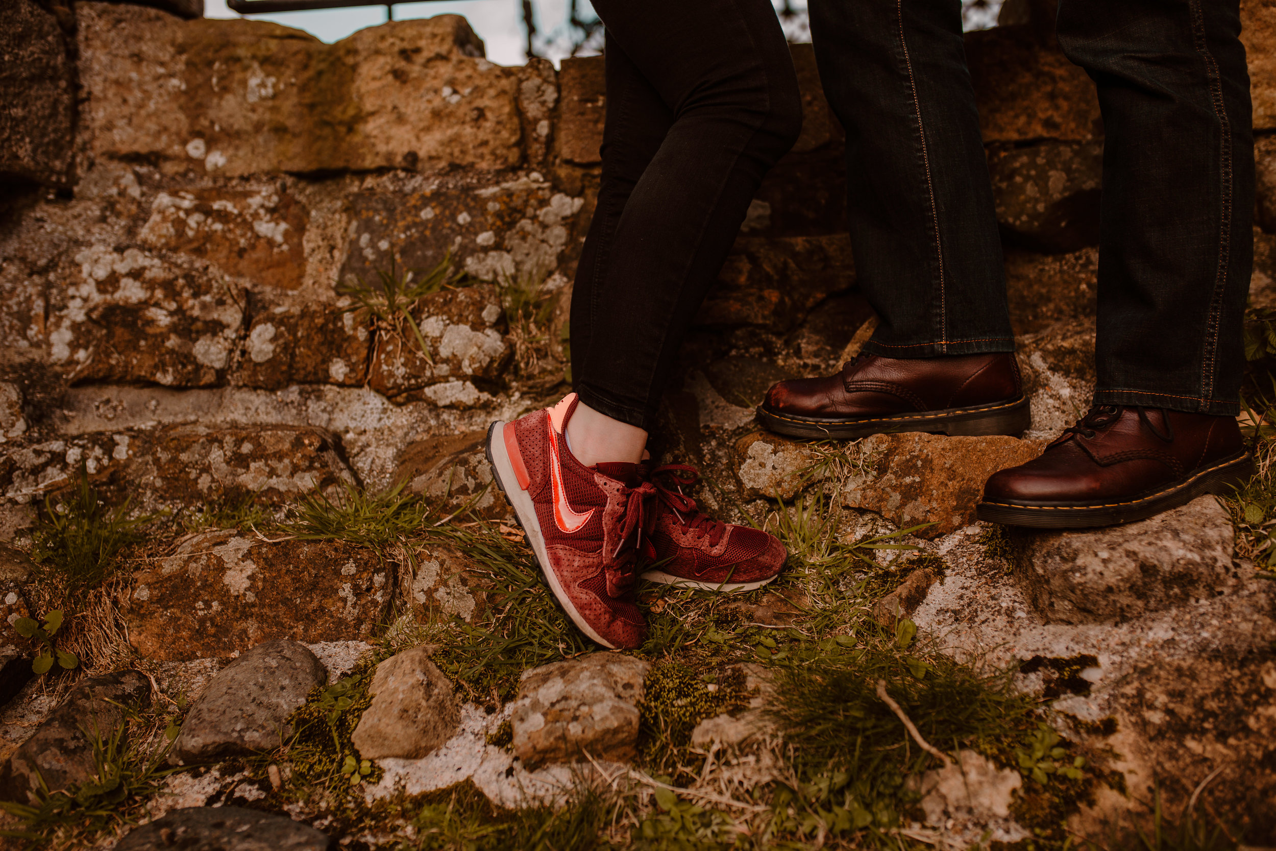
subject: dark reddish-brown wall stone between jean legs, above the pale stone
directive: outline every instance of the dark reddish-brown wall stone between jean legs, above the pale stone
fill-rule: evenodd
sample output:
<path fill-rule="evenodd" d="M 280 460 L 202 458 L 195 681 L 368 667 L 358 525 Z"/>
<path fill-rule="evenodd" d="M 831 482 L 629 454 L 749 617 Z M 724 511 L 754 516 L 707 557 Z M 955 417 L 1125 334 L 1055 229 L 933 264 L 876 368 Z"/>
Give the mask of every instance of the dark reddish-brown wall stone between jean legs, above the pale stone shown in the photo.
<path fill-rule="evenodd" d="M 1034 334 L 1059 322 L 1094 316 L 1097 277 L 1097 249 L 1072 254 L 1005 251 L 1005 295 L 1014 333 Z"/>

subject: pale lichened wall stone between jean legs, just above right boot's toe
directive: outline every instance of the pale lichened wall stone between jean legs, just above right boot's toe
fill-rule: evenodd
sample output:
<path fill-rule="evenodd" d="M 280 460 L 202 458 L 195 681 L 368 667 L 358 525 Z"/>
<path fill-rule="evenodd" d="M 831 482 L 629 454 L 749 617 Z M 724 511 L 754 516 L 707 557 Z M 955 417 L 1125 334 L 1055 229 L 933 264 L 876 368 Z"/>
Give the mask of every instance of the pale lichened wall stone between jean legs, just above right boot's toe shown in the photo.
<path fill-rule="evenodd" d="M 1018 341 L 1023 392 L 1032 406 L 1025 436 L 1054 439 L 1085 416 L 1095 393 L 1095 323 L 1060 322 Z"/>

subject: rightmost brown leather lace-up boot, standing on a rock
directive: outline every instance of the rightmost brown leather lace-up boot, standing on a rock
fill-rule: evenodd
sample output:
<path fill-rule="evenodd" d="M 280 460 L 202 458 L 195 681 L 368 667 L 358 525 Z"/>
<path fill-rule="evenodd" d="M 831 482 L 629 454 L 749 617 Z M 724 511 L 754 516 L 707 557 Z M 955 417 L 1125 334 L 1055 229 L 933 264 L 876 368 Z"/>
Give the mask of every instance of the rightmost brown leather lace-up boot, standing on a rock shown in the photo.
<path fill-rule="evenodd" d="M 1039 458 L 993 473 L 977 514 L 1040 528 L 1129 523 L 1253 472 L 1233 417 L 1101 404 Z"/>

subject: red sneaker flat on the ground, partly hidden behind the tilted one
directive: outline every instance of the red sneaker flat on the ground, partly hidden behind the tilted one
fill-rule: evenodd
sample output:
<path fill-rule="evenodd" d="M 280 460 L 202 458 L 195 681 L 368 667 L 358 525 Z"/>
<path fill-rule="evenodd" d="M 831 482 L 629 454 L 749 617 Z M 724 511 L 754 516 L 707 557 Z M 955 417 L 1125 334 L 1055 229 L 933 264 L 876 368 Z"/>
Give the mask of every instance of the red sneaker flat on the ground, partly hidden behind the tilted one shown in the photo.
<path fill-rule="evenodd" d="M 662 477 L 672 487 L 661 484 Z M 789 558 L 785 545 L 760 529 L 709 519 L 683 492 L 699 477 L 685 464 L 651 472 L 658 501 L 655 528 L 641 551 L 652 566 L 642 578 L 706 591 L 753 591 L 775 579 Z"/>

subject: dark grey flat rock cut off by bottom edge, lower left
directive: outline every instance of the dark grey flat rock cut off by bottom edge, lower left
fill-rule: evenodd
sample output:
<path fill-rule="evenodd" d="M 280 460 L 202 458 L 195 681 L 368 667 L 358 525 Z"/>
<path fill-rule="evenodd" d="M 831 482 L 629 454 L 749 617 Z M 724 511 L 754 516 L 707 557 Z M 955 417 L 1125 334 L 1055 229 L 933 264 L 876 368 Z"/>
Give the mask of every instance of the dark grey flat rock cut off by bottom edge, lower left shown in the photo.
<path fill-rule="evenodd" d="M 240 806 L 190 806 L 139 827 L 115 851 L 329 851 L 337 842 L 285 815 Z"/>

